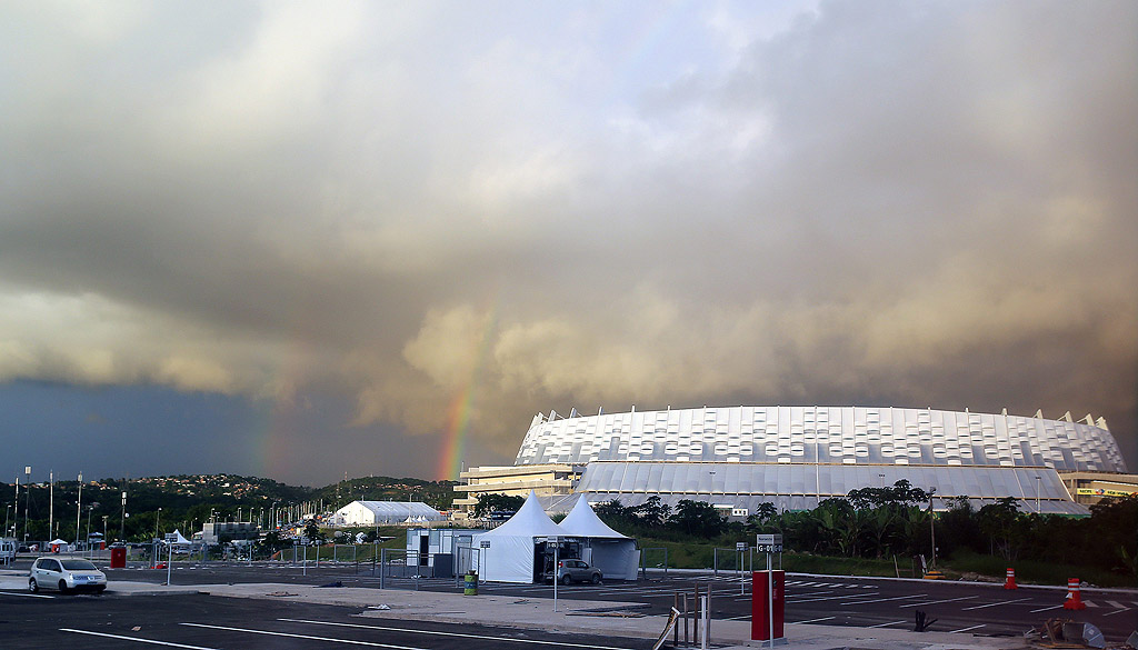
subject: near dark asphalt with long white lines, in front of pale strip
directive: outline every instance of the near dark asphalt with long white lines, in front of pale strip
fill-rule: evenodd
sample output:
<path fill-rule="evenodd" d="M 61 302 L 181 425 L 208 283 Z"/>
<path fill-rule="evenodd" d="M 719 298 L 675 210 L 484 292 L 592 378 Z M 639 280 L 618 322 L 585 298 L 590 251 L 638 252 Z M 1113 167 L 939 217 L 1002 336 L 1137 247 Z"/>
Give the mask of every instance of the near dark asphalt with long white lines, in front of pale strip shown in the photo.
<path fill-rule="evenodd" d="M 651 643 L 490 626 L 362 620 L 358 608 L 181 594 L 26 598 L 0 593 L 0 647 L 637 650 Z"/>

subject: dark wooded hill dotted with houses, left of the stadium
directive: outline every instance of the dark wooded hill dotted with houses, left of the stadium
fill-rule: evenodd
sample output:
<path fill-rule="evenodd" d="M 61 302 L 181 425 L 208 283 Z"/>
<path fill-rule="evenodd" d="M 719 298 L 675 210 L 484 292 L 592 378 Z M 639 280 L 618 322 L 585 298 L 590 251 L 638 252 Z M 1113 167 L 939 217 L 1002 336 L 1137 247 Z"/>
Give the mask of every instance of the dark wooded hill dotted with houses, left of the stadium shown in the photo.
<path fill-rule="evenodd" d="M 19 503 L 15 503 L 15 484 L 0 483 L 0 508 L 6 510 L 7 534 L 19 540 L 25 530 L 30 541 L 60 537 L 75 540 L 88 529 L 118 538 L 119 530 L 130 541 L 151 538 L 157 534 L 200 530 L 211 513 L 220 520 L 267 521 L 274 508 L 294 513 L 333 511 L 357 499 L 376 501 L 422 501 L 447 510 L 454 499 L 452 480 L 423 480 L 373 476 L 353 478 L 324 487 L 286 485 L 269 478 L 215 475 L 178 475 L 145 478 L 102 478 L 83 483 L 80 529 L 76 534 L 79 482 L 55 484 L 55 518 L 48 530 L 49 486 L 47 483 L 19 486 Z M 122 493 L 126 492 L 126 518 L 123 519 Z M 13 508 L 9 508 L 13 507 Z M 160 512 L 159 512 L 160 509 Z M 106 520 L 104 520 L 106 518 Z M 26 521 L 25 521 L 26 519 Z M 90 521 L 90 526 L 89 526 Z"/>

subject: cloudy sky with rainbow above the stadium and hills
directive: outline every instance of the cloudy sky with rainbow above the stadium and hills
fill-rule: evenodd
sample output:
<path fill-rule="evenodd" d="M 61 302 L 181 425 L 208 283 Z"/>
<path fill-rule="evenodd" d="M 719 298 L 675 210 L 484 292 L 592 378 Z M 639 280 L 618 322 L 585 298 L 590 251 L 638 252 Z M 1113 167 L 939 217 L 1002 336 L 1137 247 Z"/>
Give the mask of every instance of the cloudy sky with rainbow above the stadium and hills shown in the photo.
<path fill-rule="evenodd" d="M 0 480 L 744 403 L 1138 469 L 1136 89 L 1130 1 L 5 1 Z"/>

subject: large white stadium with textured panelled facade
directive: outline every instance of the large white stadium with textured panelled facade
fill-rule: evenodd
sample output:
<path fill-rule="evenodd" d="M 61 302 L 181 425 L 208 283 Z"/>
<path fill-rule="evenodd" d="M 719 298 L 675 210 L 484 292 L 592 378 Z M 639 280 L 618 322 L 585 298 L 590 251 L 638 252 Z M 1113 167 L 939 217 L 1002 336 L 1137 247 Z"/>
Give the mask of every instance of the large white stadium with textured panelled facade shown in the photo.
<path fill-rule="evenodd" d="M 863 406 L 731 406 L 534 417 L 512 467 L 464 471 L 456 505 L 487 492 L 536 489 L 547 511 L 585 495 L 626 505 L 659 496 L 745 517 L 761 503 L 808 510 L 851 489 L 906 479 L 933 488 L 933 508 L 1014 497 L 1021 512 L 1086 515 L 1074 479 L 1138 492 L 1099 418 L 1063 419 Z M 1082 484 L 1080 484 L 1082 485 Z M 1131 489 L 1133 488 L 1133 489 Z"/>

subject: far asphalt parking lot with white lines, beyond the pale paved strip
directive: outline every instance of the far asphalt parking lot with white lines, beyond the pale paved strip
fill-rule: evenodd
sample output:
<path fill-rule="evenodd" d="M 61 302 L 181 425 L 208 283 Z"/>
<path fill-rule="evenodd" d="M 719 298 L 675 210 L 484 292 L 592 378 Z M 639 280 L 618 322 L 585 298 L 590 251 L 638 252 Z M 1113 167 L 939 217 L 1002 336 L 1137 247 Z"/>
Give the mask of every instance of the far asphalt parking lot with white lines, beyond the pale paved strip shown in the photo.
<path fill-rule="evenodd" d="M 17 568 L 19 567 L 20 565 L 17 565 Z M 376 590 L 378 593 L 384 593 L 380 591 L 380 585 L 386 590 L 450 594 L 462 591 L 462 585 L 456 578 L 395 577 L 378 575 L 380 573 L 377 569 L 377 575 L 373 575 L 370 563 L 321 562 L 320 566 L 315 566 L 310 562 L 308 566 L 295 566 L 275 562 L 251 565 L 185 562 L 176 563 L 171 574 L 171 582 L 173 585 L 253 583 L 339 585 L 341 587 Z M 108 601 L 114 600 L 113 593 L 116 582 L 158 585 L 165 582 L 167 575 L 164 569 L 142 567 L 107 570 L 107 574 L 112 584 Z M 749 579 L 741 581 L 740 576 L 734 573 L 714 575 L 708 571 L 671 570 L 665 575 L 663 571 L 657 570 L 650 571 L 646 579 L 635 582 L 604 581 L 599 585 L 558 585 L 556 594 L 559 599 L 567 601 L 586 599 L 589 601 L 636 603 L 638 611 L 662 616 L 674 606 L 683 609 L 684 596 L 687 600 L 687 608 L 693 610 L 696 590 L 699 590 L 701 595 L 710 593 L 711 618 L 714 620 L 749 622 L 751 612 L 749 582 Z M 11 577 L 6 584 L 9 587 L 13 585 Z M 335 589 L 335 586 L 329 587 L 329 590 Z M 479 585 L 479 592 L 483 596 L 513 596 L 534 600 L 552 599 L 553 590 L 553 585 L 543 584 L 483 583 Z M 55 594 L 44 595 L 57 598 Z M 1048 618 L 1072 618 L 1078 622 L 1092 623 L 1099 627 L 1107 642 L 1123 641 L 1138 626 L 1138 591 L 1088 589 L 1082 594 L 1082 600 L 1087 604 L 1087 609 L 1082 611 L 1064 610 L 1065 595 L 1065 590 L 1055 587 L 1021 587 L 1012 591 L 1004 590 L 998 584 L 792 574 L 786 578 L 785 611 L 787 623 L 896 631 L 913 630 L 915 617 L 920 611 L 926 615 L 927 619 L 935 619 L 931 626 L 934 632 L 981 636 L 1020 636 L 1028 628 L 1039 626 Z M 83 596 L 65 598 L 82 599 Z M 10 589 L 6 593 L 0 593 L 0 599 L 5 604 L 20 600 L 33 600 Z M 126 610 L 130 609 L 129 604 L 123 607 Z M 201 620 L 178 623 L 206 624 Z M 0 626 L 0 634 L 3 634 L 5 627 L 7 626 Z M 240 626 L 230 625 L 230 627 Z M 230 633 L 233 632 L 230 631 Z M 289 633 L 304 634 L 296 630 L 291 630 Z M 192 637 L 192 634 L 184 631 L 180 634 L 188 635 L 187 639 Z M 254 633 L 246 632 L 246 634 Z M 415 645 L 411 643 L 409 647 Z"/>

